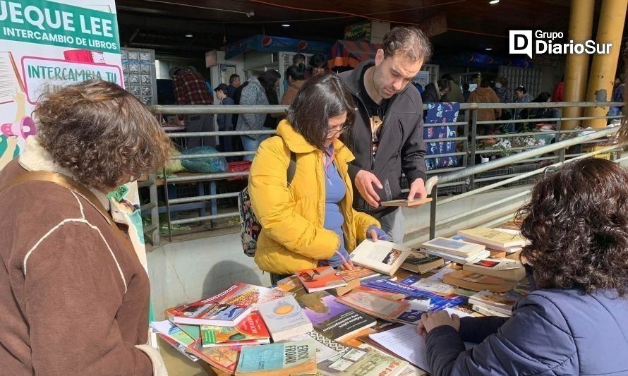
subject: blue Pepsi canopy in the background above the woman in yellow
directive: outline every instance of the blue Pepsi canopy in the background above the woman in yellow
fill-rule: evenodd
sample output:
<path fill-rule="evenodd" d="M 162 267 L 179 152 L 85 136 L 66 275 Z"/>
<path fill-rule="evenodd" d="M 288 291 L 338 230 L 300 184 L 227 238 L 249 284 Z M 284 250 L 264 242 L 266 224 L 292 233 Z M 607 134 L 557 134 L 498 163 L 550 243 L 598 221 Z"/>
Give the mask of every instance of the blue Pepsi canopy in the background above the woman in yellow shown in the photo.
<path fill-rule="evenodd" d="M 272 37 L 270 35 L 251 35 L 238 42 L 227 44 L 225 59 L 248 51 L 262 52 L 301 52 L 302 54 L 329 54 L 331 44 L 325 42 L 313 42 L 310 40 L 297 40 L 293 38 Z"/>

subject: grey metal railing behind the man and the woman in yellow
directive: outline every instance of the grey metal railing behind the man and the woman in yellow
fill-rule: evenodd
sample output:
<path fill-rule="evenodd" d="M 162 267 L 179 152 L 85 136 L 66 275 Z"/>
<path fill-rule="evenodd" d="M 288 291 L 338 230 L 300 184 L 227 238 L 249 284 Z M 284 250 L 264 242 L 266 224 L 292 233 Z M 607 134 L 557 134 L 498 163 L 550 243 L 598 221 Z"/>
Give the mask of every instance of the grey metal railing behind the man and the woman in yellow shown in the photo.
<path fill-rule="evenodd" d="M 428 176 L 436 175 L 438 176 L 438 183 L 433 184 L 432 194 L 433 194 L 433 207 L 431 215 L 432 218 L 435 219 L 435 207 L 436 205 L 440 205 L 439 201 L 436 200 L 437 188 L 454 188 L 454 193 L 461 193 L 461 195 L 454 196 L 453 198 L 464 198 L 468 197 L 467 190 L 468 187 L 473 189 L 474 180 L 476 183 L 483 183 L 485 181 L 496 180 L 496 178 L 479 178 L 475 179 L 476 174 L 480 174 L 484 171 L 489 171 L 490 169 L 495 169 L 496 167 L 506 166 L 507 164 L 512 163 L 521 163 L 528 162 L 532 157 L 537 157 L 536 161 L 539 160 L 549 160 L 555 159 L 556 162 L 564 162 L 565 158 L 569 157 L 578 157 L 581 154 L 565 154 L 564 147 L 566 146 L 557 146 L 555 145 L 576 145 L 576 144 L 565 144 L 561 143 L 563 141 L 557 142 L 556 144 L 551 145 L 551 148 L 545 149 L 545 147 L 513 147 L 511 148 L 511 152 L 517 151 L 518 154 L 510 155 L 508 157 L 503 157 L 501 159 L 497 159 L 493 162 L 488 162 L 485 164 L 481 164 L 476 166 L 475 160 L 476 155 L 481 152 L 482 154 L 499 154 L 503 153 L 502 149 L 483 149 L 479 150 L 477 147 L 477 143 L 480 140 L 485 140 L 488 138 L 495 139 L 508 139 L 514 137 L 538 137 L 540 135 L 555 135 L 555 137 L 562 137 L 563 135 L 569 135 L 570 133 L 578 133 L 583 132 L 582 130 L 574 130 L 574 131 L 564 131 L 560 129 L 561 122 L 564 120 L 589 120 L 589 119 L 620 119 L 622 116 L 600 116 L 600 117 L 576 117 L 576 118 L 562 118 L 562 109 L 564 107 L 608 107 L 608 106 L 622 106 L 623 103 L 620 102 L 561 102 L 561 103 L 510 103 L 510 104 L 484 104 L 484 103 L 464 103 L 460 104 L 461 114 L 459 119 L 461 121 L 455 121 L 450 123 L 426 123 L 425 127 L 455 127 L 457 128 L 456 137 L 446 137 L 434 140 L 425 140 L 426 145 L 429 145 L 432 142 L 455 142 L 457 150 L 455 152 L 442 153 L 442 154 L 431 154 L 426 155 L 426 159 L 433 158 L 445 158 L 445 157 L 454 157 L 459 164 L 456 166 L 445 166 L 443 168 L 431 169 L 428 170 Z M 152 107 L 153 111 L 157 114 L 281 114 L 288 107 L 286 106 L 155 106 Z M 424 109 L 425 109 L 424 105 Z M 515 119 L 515 120 L 506 120 L 506 121 L 478 121 L 478 109 L 525 109 L 525 108 L 557 108 L 558 116 L 553 118 L 545 118 L 545 119 Z M 478 125 L 482 126 L 484 124 L 509 124 L 509 123 L 537 123 L 540 121 L 555 121 L 556 130 L 555 131 L 545 131 L 545 132 L 524 132 L 524 133 L 505 133 L 500 135 L 477 135 Z M 461 132 L 458 132 L 458 130 Z M 605 129 L 605 128 L 602 128 Z M 596 131 L 598 132 L 598 131 Z M 179 133 L 169 133 L 170 138 L 188 138 L 188 137 L 201 137 L 201 136 L 212 136 L 212 137 L 220 137 L 227 135 L 263 135 L 263 134 L 274 134 L 275 131 L 267 130 L 267 131 L 210 131 L 210 132 L 179 132 Z M 461 134 L 460 134 L 461 133 Z M 606 133 L 603 133 L 605 135 Z M 603 137 L 600 135 L 599 137 Z M 577 142 L 589 142 L 591 140 L 596 140 L 596 137 L 591 138 L 574 138 L 573 140 L 579 140 Z M 581 141 L 580 141 L 581 140 Z M 551 151 L 559 150 L 558 155 L 552 157 L 538 157 L 541 154 L 546 154 Z M 186 155 L 177 155 L 174 156 L 173 159 L 195 159 L 195 158 L 205 158 L 205 157 L 239 157 L 255 154 L 255 152 L 218 152 L 213 154 L 186 154 Z M 445 174 L 445 175 L 441 175 Z M 217 181 L 227 178 L 236 178 L 241 176 L 248 176 L 248 171 L 245 172 L 221 172 L 215 174 L 194 174 L 192 176 L 178 176 L 174 178 L 168 178 L 166 171 L 164 169 L 164 197 L 165 197 L 165 212 L 167 213 L 167 227 L 168 227 L 168 236 L 170 241 L 172 240 L 172 226 L 176 224 L 189 224 L 195 222 L 210 222 L 210 226 L 212 226 L 212 221 L 215 219 L 224 219 L 231 217 L 238 217 L 238 211 L 234 212 L 224 212 L 224 213 L 212 213 L 211 215 L 204 215 L 201 217 L 193 217 L 186 219 L 172 219 L 171 218 L 171 207 L 170 205 L 181 205 L 191 202 L 208 202 L 211 200 L 219 200 L 223 198 L 235 198 L 238 195 L 238 192 L 229 192 L 229 193 L 211 193 L 210 195 L 197 195 L 189 198 L 169 198 L 168 193 L 168 185 L 174 183 L 191 183 L 191 182 L 200 182 L 200 181 Z M 521 176 L 521 175 L 520 175 Z M 522 175 L 524 177 L 530 175 Z M 470 181 L 466 181 L 466 177 L 469 177 Z M 498 176 L 497 178 L 507 178 L 507 180 L 502 181 L 496 184 L 490 184 L 484 188 L 479 188 L 479 191 L 485 191 L 490 188 L 495 188 L 498 186 L 503 186 L 507 183 L 512 183 L 514 181 L 518 181 L 519 179 L 514 179 L 513 176 Z M 514 179 L 514 180 L 512 180 Z M 151 210 L 151 218 L 152 225 L 150 227 L 150 231 L 152 231 L 152 240 L 154 244 L 159 243 L 159 219 L 157 216 L 157 212 L 159 210 L 163 210 L 164 207 L 159 207 L 157 205 L 157 191 L 155 188 L 155 184 L 157 183 L 157 179 L 153 176 L 150 179 L 151 183 L 144 183 L 145 186 L 150 186 L 150 203 L 146 205 L 145 208 L 148 208 L 150 205 Z M 429 178 L 428 182 L 434 182 L 433 178 Z M 431 187 L 430 187 L 431 188 Z M 153 190 L 155 193 L 153 194 Z M 407 188 L 403 190 L 407 192 Z M 451 191 L 451 190 L 450 190 Z M 428 190 L 429 192 L 429 190 Z M 474 192 L 478 192 L 475 190 Z M 215 202 L 215 201 L 214 201 Z M 441 202 L 447 202 L 443 200 Z M 433 234 L 432 223 L 430 221 L 430 234 Z"/>

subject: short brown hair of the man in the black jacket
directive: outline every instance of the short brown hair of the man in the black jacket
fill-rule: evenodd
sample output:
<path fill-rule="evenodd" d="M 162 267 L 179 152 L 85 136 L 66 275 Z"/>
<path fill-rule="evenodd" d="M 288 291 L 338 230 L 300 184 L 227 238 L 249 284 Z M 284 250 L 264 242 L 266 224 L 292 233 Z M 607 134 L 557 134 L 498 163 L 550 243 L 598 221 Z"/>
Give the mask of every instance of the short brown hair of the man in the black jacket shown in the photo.
<path fill-rule="evenodd" d="M 400 26 L 386 33 L 384 42 L 384 57 L 401 54 L 410 61 L 429 61 L 432 57 L 432 44 L 425 34 L 410 26 Z"/>

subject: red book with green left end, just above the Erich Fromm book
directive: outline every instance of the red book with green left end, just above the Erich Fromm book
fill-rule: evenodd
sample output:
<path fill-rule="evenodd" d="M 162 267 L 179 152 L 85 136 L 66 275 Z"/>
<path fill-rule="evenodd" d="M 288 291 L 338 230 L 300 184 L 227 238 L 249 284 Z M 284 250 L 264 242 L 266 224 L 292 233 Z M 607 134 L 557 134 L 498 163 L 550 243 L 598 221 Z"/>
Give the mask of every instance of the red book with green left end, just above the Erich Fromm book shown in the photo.
<path fill-rule="evenodd" d="M 203 347 L 228 344 L 270 344 L 270 333 L 259 313 L 253 312 L 235 327 L 200 326 Z"/>

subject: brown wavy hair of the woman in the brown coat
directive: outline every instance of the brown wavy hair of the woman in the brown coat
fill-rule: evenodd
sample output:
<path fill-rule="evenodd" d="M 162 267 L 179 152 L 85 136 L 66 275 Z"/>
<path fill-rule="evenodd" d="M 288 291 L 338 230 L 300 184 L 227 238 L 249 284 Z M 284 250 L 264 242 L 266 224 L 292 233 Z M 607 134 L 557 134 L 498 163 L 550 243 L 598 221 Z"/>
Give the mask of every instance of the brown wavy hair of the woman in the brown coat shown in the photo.
<path fill-rule="evenodd" d="M 51 92 L 35 116 L 40 144 L 85 186 L 115 188 L 170 157 L 155 115 L 114 83 L 88 80 Z"/>

